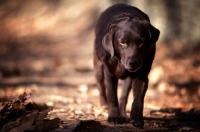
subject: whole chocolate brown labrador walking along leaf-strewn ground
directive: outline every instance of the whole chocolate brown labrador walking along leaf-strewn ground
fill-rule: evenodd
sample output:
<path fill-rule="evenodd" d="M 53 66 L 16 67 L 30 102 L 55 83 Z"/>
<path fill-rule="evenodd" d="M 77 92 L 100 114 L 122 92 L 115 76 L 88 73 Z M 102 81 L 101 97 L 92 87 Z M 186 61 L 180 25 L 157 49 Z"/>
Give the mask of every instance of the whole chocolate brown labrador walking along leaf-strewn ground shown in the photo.
<path fill-rule="evenodd" d="M 106 9 L 95 28 L 94 68 L 101 106 L 108 106 L 108 122 L 124 123 L 128 94 L 134 101 L 130 122 L 143 127 L 143 103 L 159 30 L 136 7 L 116 4 Z M 124 80 L 118 103 L 118 79 Z"/>

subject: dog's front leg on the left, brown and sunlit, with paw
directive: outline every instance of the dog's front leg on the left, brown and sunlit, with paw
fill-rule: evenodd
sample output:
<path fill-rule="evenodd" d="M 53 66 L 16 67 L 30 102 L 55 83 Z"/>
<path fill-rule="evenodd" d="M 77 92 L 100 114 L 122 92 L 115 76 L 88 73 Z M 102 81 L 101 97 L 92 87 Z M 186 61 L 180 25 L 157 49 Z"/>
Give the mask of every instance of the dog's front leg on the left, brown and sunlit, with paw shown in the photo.
<path fill-rule="evenodd" d="M 106 68 L 104 69 L 104 75 L 108 103 L 108 122 L 111 124 L 119 124 L 121 123 L 121 118 L 117 98 L 118 78 Z"/>

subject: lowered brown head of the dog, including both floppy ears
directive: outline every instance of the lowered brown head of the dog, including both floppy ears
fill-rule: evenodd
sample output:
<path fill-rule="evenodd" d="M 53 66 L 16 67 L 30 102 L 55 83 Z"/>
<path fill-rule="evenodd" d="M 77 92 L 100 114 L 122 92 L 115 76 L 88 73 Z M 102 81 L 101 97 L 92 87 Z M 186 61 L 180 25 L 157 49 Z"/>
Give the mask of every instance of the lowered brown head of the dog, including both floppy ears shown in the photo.
<path fill-rule="evenodd" d="M 111 55 L 116 56 L 130 72 L 141 68 L 144 56 L 158 40 L 160 31 L 148 21 L 126 19 L 111 25 L 104 36 L 102 44 Z"/>

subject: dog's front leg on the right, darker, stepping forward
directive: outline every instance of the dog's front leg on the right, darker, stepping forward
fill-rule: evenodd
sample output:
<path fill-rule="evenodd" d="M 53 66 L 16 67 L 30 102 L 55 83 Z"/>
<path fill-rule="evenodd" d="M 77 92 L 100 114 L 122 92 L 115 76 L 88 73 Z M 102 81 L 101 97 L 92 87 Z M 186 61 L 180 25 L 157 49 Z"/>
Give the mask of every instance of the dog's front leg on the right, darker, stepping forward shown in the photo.
<path fill-rule="evenodd" d="M 142 128 L 143 121 L 143 104 L 144 96 L 148 87 L 148 78 L 136 78 L 133 81 L 133 97 L 134 101 L 131 109 L 131 123 L 133 126 Z"/>

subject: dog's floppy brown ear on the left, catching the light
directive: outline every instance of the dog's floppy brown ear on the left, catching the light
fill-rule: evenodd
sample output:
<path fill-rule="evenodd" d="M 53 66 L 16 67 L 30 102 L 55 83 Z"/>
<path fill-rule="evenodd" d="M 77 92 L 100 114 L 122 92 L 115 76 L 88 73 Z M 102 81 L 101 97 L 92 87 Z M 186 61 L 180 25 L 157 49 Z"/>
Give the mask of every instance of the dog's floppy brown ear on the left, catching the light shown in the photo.
<path fill-rule="evenodd" d="M 110 53 L 111 57 L 114 56 L 113 35 L 114 35 L 114 29 L 110 28 L 109 32 L 103 37 L 102 40 L 102 45 L 104 49 L 108 53 Z"/>

